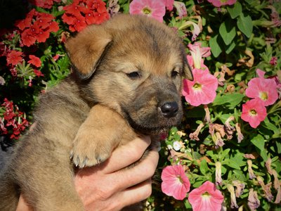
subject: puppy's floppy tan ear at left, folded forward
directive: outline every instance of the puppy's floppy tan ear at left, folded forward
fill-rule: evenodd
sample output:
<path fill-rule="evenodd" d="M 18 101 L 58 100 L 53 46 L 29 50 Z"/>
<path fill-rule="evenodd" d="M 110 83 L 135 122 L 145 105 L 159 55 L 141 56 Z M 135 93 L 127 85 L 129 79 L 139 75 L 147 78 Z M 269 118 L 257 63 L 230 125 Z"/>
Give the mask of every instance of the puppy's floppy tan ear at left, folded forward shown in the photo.
<path fill-rule="evenodd" d="M 81 79 L 89 79 L 110 46 L 112 37 L 101 25 L 92 25 L 67 39 L 65 47 L 74 71 Z"/>

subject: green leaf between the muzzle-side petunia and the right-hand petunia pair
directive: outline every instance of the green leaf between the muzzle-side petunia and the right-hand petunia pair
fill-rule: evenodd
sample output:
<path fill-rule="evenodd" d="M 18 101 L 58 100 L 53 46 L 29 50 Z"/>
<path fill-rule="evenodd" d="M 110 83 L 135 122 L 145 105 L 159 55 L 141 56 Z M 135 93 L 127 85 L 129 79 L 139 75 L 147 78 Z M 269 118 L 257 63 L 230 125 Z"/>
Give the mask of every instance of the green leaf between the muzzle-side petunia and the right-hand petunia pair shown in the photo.
<path fill-rule="evenodd" d="M 218 94 L 213 102 L 213 106 L 227 104 L 229 107 L 235 107 L 242 101 L 242 98 L 244 98 L 244 94 L 240 93 Z"/>

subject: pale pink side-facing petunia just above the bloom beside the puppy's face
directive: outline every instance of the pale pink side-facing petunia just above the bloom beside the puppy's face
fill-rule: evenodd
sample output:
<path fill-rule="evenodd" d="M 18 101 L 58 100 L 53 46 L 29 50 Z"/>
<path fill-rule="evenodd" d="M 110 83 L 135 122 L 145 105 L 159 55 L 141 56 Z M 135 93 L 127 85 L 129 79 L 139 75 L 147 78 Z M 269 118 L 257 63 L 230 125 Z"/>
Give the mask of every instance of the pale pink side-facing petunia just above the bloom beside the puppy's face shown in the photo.
<path fill-rule="evenodd" d="M 202 57 L 208 57 L 211 55 L 211 48 L 201 47 L 201 42 L 197 41 L 195 44 L 188 44 L 191 56 L 193 58 L 194 68 L 202 69 L 201 64 L 203 63 Z"/>

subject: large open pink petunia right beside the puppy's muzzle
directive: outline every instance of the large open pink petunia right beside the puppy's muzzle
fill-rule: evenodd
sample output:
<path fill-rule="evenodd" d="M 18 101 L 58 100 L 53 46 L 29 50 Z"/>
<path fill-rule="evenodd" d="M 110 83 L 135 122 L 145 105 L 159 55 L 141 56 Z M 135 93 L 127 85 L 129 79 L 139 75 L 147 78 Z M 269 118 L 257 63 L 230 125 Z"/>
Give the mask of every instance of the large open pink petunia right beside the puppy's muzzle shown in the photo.
<path fill-rule="evenodd" d="M 207 105 L 216 98 L 218 79 L 209 70 L 192 70 L 193 81 L 183 79 L 183 96 L 191 106 Z"/>

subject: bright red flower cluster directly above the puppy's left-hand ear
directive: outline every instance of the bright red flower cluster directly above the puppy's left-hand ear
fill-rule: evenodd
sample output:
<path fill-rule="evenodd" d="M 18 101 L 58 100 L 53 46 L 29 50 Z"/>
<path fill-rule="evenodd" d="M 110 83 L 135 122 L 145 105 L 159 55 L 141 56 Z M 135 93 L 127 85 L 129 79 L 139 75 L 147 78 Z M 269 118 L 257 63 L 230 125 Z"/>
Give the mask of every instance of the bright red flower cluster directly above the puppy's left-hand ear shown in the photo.
<path fill-rule="evenodd" d="M 63 8 L 63 22 L 67 23 L 72 32 L 79 32 L 87 25 L 100 24 L 110 17 L 106 5 L 101 0 L 85 1 L 75 0 Z"/>

